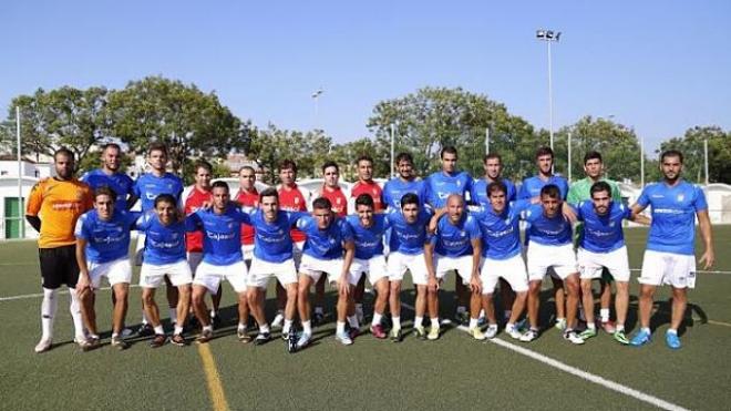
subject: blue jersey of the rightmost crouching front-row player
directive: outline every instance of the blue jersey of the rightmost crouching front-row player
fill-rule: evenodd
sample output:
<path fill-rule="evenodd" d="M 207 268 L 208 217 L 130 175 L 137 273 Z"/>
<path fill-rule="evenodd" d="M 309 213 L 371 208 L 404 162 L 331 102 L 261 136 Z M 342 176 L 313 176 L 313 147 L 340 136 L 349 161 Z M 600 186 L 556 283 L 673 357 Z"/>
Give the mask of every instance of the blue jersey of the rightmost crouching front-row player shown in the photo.
<path fill-rule="evenodd" d="M 579 247 L 591 253 L 609 253 L 625 245 L 621 220 L 629 219 L 632 212 L 621 203 L 611 202 L 606 215 L 597 215 L 594 203 L 579 203 L 576 216 L 584 222 L 584 235 Z"/>

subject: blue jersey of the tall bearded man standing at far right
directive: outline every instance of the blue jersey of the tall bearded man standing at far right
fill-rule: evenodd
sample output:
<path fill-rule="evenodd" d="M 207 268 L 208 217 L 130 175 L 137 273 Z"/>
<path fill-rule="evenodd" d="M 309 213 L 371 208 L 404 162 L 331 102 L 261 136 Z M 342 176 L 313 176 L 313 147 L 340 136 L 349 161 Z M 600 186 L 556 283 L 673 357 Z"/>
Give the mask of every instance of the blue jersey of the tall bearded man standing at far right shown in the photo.
<path fill-rule="evenodd" d="M 637 204 L 652 207 L 647 249 L 694 254 L 696 213 L 708 209 L 706 194 L 699 186 L 684 181 L 672 187 L 663 182 L 651 184 L 642 189 Z"/>

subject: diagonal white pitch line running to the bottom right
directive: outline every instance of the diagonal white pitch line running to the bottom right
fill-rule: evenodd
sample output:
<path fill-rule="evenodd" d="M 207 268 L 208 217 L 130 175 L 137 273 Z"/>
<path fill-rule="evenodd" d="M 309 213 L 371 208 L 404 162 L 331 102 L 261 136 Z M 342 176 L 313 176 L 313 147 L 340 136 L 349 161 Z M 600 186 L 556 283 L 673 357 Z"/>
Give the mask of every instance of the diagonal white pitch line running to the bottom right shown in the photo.
<path fill-rule="evenodd" d="M 412 311 L 413 311 L 413 309 L 414 309 L 412 306 L 410 306 L 410 305 L 408 305 L 408 304 L 403 304 L 403 302 L 401 302 L 401 306 L 404 307 L 404 308 L 408 308 L 408 309 L 410 309 L 410 310 L 412 310 Z M 442 322 L 442 323 L 444 323 L 444 322 Z M 459 330 L 461 330 L 461 331 L 470 332 L 470 329 L 469 329 L 467 327 L 465 327 L 465 326 L 457 326 L 456 328 L 457 328 Z M 566 363 L 564 363 L 564 362 L 560 362 L 560 361 L 558 361 L 558 360 L 555 360 L 555 359 L 553 359 L 553 358 L 550 358 L 550 357 L 547 357 L 547 356 L 544 356 L 544 355 L 542 355 L 542 353 L 538 353 L 538 352 L 535 352 L 535 351 L 528 350 L 527 348 L 523 348 L 523 347 L 519 347 L 519 346 L 516 346 L 516 345 L 509 343 L 509 342 L 507 342 L 507 341 L 505 341 L 505 340 L 502 340 L 502 339 L 500 339 L 500 338 L 493 338 L 493 339 L 490 339 L 490 340 L 487 340 L 487 341 L 490 341 L 490 342 L 492 342 L 492 343 L 494 343 L 494 345 L 501 346 L 501 347 L 503 347 L 503 348 L 506 348 L 506 349 L 508 349 L 508 350 L 515 351 L 515 352 L 517 352 L 517 353 L 519 353 L 519 355 L 523 355 L 523 356 L 526 356 L 526 357 L 528 357 L 528 358 L 532 358 L 532 359 L 534 359 L 534 360 L 536 360 L 536 361 L 543 362 L 543 363 L 545 363 L 545 364 L 547 364 L 547 366 L 550 366 L 550 367 L 553 367 L 553 368 L 557 368 L 557 369 L 559 369 L 559 370 L 562 370 L 562 371 L 564 371 L 564 372 L 567 372 L 567 373 L 569 373 L 569 374 L 572 374 L 572 376 L 578 377 L 578 378 L 580 378 L 580 379 L 583 379 L 583 380 L 586 380 L 586 381 L 589 381 L 589 382 L 594 382 L 595 384 L 599 384 L 599 386 L 605 387 L 605 388 L 608 388 L 608 389 L 610 389 L 610 390 L 612 390 L 612 391 L 617 391 L 617 392 L 619 392 L 620 394 L 625 394 L 625 395 L 628 395 L 628 397 L 632 397 L 632 398 L 635 398 L 635 399 L 637 399 L 637 400 L 640 400 L 640 401 L 642 401 L 642 402 L 647 402 L 647 403 L 649 403 L 649 404 L 651 404 L 651 405 L 655 405 L 655 407 L 661 408 L 661 409 L 663 409 L 663 410 L 670 410 L 670 411 L 688 411 L 687 408 L 683 408 L 683 407 L 680 407 L 680 405 L 673 404 L 672 402 L 665 401 L 665 400 L 662 400 L 662 399 L 660 399 L 660 398 L 657 398 L 657 397 L 655 397 L 655 395 L 650 395 L 650 394 L 645 393 L 645 392 L 642 392 L 642 391 L 635 390 L 635 389 L 629 388 L 629 387 L 627 387 L 627 386 L 622 386 L 622 384 L 620 384 L 620 383 L 618 383 L 618 382 L 615 382 L 615 381 L 611 381 L 611 380 L 607 380 L 606 378 L 603 378 L 603 377 L 599 377 L 599 376 L 597 376 L 597 374 L 593 374 L 593 373 L 590 373 L 590 372 L 587 372 L 587 371 L 580 370 L 580 369 L 578 369 L 578 368 L 576 368 L 576 367 L 572 367 L 572 366 L 569 366 L 569 364 L 566 364 Z"/>

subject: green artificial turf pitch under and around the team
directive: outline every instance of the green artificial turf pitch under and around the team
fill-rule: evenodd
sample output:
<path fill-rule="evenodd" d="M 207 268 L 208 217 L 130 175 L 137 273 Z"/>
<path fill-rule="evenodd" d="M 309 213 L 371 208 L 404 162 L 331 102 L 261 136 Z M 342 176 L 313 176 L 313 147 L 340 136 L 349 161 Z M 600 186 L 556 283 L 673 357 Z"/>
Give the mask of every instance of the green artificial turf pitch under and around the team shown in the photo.
<path fill-rule="evenodd" d="M 496 343 L 474 341 L 455 328 L 434 342 L 409 336 L 392 343 L 366 333 L 353 346 L 343 347 L 332 338 L 330 318 L 316 329 L 311 347 L 289 355 L 281 340 L 261 347 L 236 340 L 233 291 L 225 286 L 226 326 L 207 349 L 167 345 L 153 350 L 146 341 L 136 341 L 125 351 L 104 346 L 81 352 L 71 342 L 68 296 L 63 295 L 56 346 L 35 355 L 41 304 L 35 244 L 4 243 L 0 247 L 0 409 L 652 409 L 658 400 L 666 401 L 666 408 L 728 409 L 731 227 L 714 227 L 713 232 L 715 269 L 727 273 L 699 275 L 697 288 L 690 292 L 691 309 L 681 330 L 684 346 L 679 351 L 669 350 L 663 341 L 669 321 L 667 288 L 658 295 L 655 339 L 640 349 L 621 347 L 601 332 L 575 347 L 555 329 L 547 329 L 532 343 L 514 342 L 501 333 L 497 338 L 504 342 Z M 646 230 L 630 229 L 627 237 L 630 266 L 640 267 Z M 637 326 L 637 274 L 632 277 L 630 331 Z M 453 282 L 450 279 L 447 286 Z M 159 294 L 158 302 L 165 307 L 164 292 Z M 268 295 L 269 318 L 274 316 L 272 294 Z M 9 298 L 17 296 L 22 297 Z M 332 292 L 329 299 L 332 307 Z M 138 301 L 140 289 L 133 288 L 127 315 L 133 328 L 141 316 Z M 411 287 L 404 290 L 403 301 L 413 304 Z M 442 301 L 443 314 L 452 312 L 451 291 L 442 294 Z M 371 310 L 370 299 L 366 308 Z M 542 310 L 546 323 L 553 310 L 550 300 L 544 301 Z M 100 329 L 109 330 L 109 291 L 100 291 L 97 312 Z M 413 314 L 404 309 L 402 317 L 408 330 Z M 529 351 L 516 352 L 515 346 Z M 207 353 L 213 355 L 213 366 L 204 364 Z M 547 364 L 536 355 L 556 362 Z M 564 366 L 586 373 L 576 376 L 556 368 Z M 597 377 L 620 384 L 620 392 L 593 382 Z M 628 389 L 652 399 L 641 401 L 628 394 Z"/>

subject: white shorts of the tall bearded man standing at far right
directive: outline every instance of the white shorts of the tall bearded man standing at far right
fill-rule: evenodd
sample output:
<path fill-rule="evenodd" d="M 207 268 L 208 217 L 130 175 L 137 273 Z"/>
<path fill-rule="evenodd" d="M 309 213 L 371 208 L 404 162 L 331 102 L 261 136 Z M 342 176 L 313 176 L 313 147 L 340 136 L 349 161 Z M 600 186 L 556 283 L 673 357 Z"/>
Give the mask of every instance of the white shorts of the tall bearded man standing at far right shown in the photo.
<path fill-rule="evenodd" d="M 640 284 L 696 288 L 696 256 L 645 250 Z"/>

